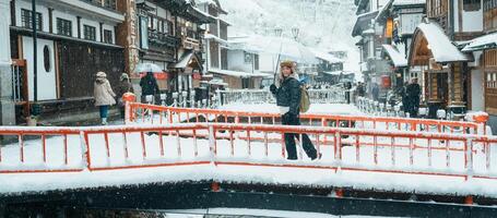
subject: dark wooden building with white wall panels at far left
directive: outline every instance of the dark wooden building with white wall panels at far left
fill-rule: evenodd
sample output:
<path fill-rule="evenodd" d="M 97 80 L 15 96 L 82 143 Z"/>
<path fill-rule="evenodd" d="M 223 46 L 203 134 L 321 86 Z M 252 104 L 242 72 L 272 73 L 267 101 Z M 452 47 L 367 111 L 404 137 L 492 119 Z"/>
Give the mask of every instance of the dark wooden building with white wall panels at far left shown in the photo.
<path fill-rule="evenodd" d="M 98 71 L 111 84 L 125 72 L 123 48 L 117 45 L 116 28 L 125 21 L 120 1 L 38 1 L 37 98 L 34 97 L 32 4 L 11 0 L 11 58 L 24 62 L 14 80 L 17 117 L 28 116 L 35 99 L 43 113 L 93 107 L 93 84 Z M 23 109 L 24 108 L 24 109 Z M 20 120 L 22 122 L 22 120 Z"/>

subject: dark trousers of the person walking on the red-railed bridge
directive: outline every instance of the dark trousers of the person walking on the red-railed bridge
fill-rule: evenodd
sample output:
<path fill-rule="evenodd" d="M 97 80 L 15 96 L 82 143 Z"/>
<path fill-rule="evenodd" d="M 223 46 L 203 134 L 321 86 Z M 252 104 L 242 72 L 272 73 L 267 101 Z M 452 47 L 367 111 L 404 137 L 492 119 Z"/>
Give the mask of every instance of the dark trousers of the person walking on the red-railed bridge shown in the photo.
<path fill-rule="evenodd" d="M 289 116 L 288 113 L 282 116 L 282 123 L 284 125 L 300 125 L 300 119 L 298 116 Z M 296 160 L 297 158 L 297 147 L 295 145 L 295 138 L 300 140 L 300 135 L 297 133 L 285 133 L 285 145 L 286 153 L 288 154 L 287 159 Z M 307 156 L 311 159 L 316 159 L 318 152 L 316 150 L 312 142 L 310 141 L 307 134 L 301 134 L 301 142 L 304 150 Z"/>

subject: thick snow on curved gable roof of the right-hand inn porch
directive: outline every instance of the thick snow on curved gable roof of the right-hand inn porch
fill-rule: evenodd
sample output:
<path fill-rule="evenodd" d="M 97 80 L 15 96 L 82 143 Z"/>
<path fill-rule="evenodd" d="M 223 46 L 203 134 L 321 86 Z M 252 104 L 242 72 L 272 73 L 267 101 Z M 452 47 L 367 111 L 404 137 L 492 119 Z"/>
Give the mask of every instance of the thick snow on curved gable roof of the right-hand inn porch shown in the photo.
<path fill-rule="evenodd" d="M 464 53 L 462 53 L 447 37 L 443 29 L 435 22 L 421 23 L 417 25 L 416 33 L 423 33 L 428 41 L 431 55 L 436 62 L 454 62 L 454 61 L 469 61 Z"/>

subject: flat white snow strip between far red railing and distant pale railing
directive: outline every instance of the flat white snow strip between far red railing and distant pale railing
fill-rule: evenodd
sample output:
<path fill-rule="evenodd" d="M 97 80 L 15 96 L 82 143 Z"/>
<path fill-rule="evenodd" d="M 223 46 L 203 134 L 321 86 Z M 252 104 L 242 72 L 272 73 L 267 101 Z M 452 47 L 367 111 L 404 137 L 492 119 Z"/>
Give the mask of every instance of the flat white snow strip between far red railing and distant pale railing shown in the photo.
<path fill-rule="evenodd" d="M 279 113 L 280 109 L 276 104 L 241 104 L 235 102 L 222 106 L 220 109 L 224 110 L 237 110 L 247 112 L 271 112 Z M 311 104 L 307 113 L 320 113 L 320 114 L 364 114 L 354 105 L 346 104 Z"/>

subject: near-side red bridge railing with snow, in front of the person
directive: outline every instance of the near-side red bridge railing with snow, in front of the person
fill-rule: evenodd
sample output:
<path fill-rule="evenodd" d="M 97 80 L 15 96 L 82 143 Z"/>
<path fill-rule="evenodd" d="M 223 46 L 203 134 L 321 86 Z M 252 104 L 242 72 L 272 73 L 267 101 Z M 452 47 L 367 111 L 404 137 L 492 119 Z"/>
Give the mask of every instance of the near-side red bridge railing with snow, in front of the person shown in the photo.
<path fill-rule="evenodd" d="M 321 159 L 305 157 L 297 141 L 299 160 L 286 160 L 285 133 L 308 134 Z M 0 134 L 21 136 L 1 147 L 0 173 L 214 164 L 497 179 L 497 137 L 472 134 L 234 123 L 7 126 Z M 46 143 L 48 135 L 58 136 Z"/>

